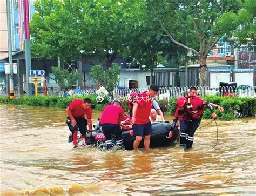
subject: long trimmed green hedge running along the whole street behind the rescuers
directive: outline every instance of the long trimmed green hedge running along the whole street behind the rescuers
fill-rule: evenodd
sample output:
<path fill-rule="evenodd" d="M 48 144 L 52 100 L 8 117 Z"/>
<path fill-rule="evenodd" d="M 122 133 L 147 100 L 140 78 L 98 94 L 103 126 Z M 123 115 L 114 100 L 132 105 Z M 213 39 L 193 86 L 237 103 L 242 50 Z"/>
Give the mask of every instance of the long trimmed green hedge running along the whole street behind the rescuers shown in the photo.
<path fill-rule="evenodd" d="M 0 104 L 15 104 L 15 105 L 32 105 L 32 106 L 45 106 L 45 107 L 68 107 L 73 99 L 90 98 L 92 100 L 92 109 L 103 110 L 108 101 L 104 98 L 103 102 L 96 101 L 96 95 L 90 96 L 74 96 L 74 97 L 58 97 L 58 96 L 22 96 L 15 99 L 9 97 L 0 97 Z M 220 97 L 220 96 L 206 96 L 203 97 L 208 102 L 218 104 L 224 107 L 224 112 L 219 112 L 215 109 L 218 118 L 224 120 L 233 120 L 235 117 L 255 117 L 256 99 L 255 98 L 238 98 L 238 97 Z M 168 111 L 173 115 L 176 108 L 176 99 L 171 99 L 169 104 L 165 100 L 159 100 L 159 104 L 163 107 L 164 111 Z M 121 101 L 122 107 L 127 112 L 128 107 L 126 100 Z M 211 112 L 206 109 L 203 118 L 210 119 Z"/>

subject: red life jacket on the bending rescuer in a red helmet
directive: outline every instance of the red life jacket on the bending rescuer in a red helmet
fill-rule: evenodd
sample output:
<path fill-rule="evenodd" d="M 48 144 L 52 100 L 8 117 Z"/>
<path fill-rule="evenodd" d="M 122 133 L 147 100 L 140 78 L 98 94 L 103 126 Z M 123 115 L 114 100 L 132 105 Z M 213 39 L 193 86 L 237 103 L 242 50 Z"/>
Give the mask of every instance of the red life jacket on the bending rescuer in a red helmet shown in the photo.
<path fill-rule="evenodd" d="M 197 96 L 186 96 L 186 99 L 187 107 L 181 119 L 191 120 L 201 118 L 206 107 L 206 101 Z"/>

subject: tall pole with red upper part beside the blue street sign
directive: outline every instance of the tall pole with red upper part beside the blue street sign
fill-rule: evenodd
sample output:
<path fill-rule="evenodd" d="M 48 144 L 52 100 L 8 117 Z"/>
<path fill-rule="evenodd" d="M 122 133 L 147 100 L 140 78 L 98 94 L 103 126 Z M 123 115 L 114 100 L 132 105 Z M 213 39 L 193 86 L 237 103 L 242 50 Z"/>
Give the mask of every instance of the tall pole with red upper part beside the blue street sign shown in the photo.
<path fill-rule="evenodd" d="M 10 1 L 10 0 L 7 0 Z M 24 30 L 25 30 L 25 58 L 26 58 L 26 94 L 32 96 L 29 75 L 31 70 L 31 53 L 30 53 L 30 32 L 29 32 L 29 1 L 23 0 L 24 8 Z"/>

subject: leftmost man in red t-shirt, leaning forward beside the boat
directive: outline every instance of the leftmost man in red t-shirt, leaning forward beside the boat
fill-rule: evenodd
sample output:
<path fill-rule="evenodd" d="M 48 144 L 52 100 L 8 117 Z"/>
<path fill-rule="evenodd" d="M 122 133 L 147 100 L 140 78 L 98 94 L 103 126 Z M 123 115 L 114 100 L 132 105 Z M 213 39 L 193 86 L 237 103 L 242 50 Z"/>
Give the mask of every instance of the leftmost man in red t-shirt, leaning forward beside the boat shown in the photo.
<path fill-rule="evenodd" d="M 69 130 L 72 132 L 72 140 L 74 148 L 78 147 L 77 132 L 78 128 L 82 134 L 81 138 L 86 140 L 87 125 L 89 127 L 90 136 L 92 134 L 92 109 L 91 109 L 91 99 L 86 98 L 84 100 L 75 99 L 73 100 L 66 113 L 68 114 L 68 119 L 66 124 L 69 126 Z"/>

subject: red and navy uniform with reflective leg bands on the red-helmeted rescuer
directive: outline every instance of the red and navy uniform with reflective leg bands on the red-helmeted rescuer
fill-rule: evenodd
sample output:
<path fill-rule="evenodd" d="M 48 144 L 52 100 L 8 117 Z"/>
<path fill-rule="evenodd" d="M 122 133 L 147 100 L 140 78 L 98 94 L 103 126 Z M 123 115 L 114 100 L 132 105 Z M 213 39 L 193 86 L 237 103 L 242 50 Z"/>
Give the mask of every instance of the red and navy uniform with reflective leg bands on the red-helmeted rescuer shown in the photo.
<path fill-rule="evenodd" d="M 200 97 L 186 96 L 185 98 L 186 103 L 184 110 L 181 111 L 179 110 L 179 107 L 177 107 L 174 112 L 171 131 L 173 131 L 180 117 L 180 145 L 189 149 L 192 148 L 194 133 L 200 125 L 206 106 L 210 108 L 212 113 L 214 111 L 211 104 Z"/>

